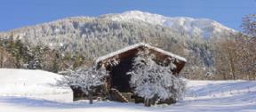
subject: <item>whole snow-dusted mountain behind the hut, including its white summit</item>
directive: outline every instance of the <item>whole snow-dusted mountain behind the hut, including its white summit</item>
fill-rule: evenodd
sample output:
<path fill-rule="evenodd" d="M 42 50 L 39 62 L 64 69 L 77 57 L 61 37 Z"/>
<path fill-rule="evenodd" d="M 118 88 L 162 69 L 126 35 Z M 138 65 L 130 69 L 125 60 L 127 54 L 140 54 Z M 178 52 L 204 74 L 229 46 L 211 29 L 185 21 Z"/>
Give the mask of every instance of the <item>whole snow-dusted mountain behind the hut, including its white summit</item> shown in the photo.
<path fill-rule="evenodd" d="M 100 17 L 80 16 L 54 20 L 0 32 L 0 39 L 20 38 L 26 45 L 47 46 L 68 52 L 71 56 L 78 52 L 86 58 L 84 60 L 90 62 L 125 46 L 144 42 L 189 58 L 188 67 L 210 69 L 214 64 L 211 49 L 215 44 L 212 41 L 226 38 L 230 33 L 236 31 L 214 20 L 170 18 L 149 12 L 130 11 Z"/>

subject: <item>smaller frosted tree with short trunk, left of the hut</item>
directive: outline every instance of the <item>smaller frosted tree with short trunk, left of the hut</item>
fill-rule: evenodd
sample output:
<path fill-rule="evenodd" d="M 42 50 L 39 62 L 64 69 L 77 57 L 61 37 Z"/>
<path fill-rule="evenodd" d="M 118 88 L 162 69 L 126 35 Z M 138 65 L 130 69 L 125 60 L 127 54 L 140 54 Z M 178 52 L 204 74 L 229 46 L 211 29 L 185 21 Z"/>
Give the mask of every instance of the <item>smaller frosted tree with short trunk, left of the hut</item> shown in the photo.
<path fill-rule="evenodd" d="M 79 87 L 89 96 L 92 104 L 92 93 L 98 86 L 103 85 L 108 71 L 105 68 L 78 68 L 75 71 L 70 70 L 68 76 L 64 76 L 60 84 L 68 84 L 68 86 Z"/>

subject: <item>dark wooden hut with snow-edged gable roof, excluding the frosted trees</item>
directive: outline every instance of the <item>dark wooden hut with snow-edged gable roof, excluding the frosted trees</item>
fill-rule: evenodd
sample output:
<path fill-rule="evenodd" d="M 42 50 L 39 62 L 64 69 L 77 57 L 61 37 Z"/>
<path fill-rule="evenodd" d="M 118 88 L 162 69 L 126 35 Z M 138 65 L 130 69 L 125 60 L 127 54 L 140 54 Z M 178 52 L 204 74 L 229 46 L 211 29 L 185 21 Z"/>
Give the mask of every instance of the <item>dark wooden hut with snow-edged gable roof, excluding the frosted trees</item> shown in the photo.
<path fill-rule="evenodd" d="M 180 70 L 184 67 L 187 61 L 185 58 L 173 54 L 172 52 L 166 52 L 144 43 L 133 44 L 98 58 L 96 60 L 97 67 L 100 68 L 104 66 L 109 71 L 109 76 L 106 82 L 107 90 L 112 95 L 112 100 L 122 102 L 134 101 L 134 97 L 132 97 L 132 88 L 129 84 L 131 76 L 126 74 L 132 70 L 132 60 L 136 57 L 136 54 L 145 49 L 148 49 L 150 54 L 155 54 L 156 61 L 158 62 L 169 64 L 172 61 L 176 66 L 176 68 L 172 69 L 172 73 L 175 76 L 179 75 Z"/>

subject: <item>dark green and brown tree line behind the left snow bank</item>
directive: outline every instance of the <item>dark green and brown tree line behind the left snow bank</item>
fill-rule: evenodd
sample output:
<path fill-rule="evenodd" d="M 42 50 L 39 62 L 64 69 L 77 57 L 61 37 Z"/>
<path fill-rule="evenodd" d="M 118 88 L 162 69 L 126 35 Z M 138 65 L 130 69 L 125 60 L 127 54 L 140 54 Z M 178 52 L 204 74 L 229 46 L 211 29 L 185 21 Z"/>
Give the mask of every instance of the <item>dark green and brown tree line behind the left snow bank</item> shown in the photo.
<path fill-rule="evenodd" d="M 48 46 L 24 44 L 20 39 L 0 39 L 0 68 L 44 69 L 58 73 L 68 68 L 77 68 L 85 63 L 84 55 L 78 52 L 60 52 Z"/>

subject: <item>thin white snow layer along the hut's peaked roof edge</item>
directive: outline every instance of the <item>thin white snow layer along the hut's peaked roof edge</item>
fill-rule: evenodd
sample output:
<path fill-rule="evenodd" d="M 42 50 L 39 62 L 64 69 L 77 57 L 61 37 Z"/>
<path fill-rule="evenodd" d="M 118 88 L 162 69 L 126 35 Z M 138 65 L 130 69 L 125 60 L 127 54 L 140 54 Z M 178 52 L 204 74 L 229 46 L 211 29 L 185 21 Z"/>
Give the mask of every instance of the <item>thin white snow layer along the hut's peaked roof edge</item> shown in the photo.
<path fill-rule="evenodd" d="M 101 57 L 99 57 L 99 58 L 96 60 L 96 63 L 99 63 L 101 60 L 107 60 L 107 59 L 109 59 L 109 58 L 111 58 L 111 57 L 114 57 L 114 56 L 116 56 L 116 55 L 118 55 L 118 54 L 120 54 L 120 53 L 122 53 L 122 52 L 127 52 L 127 51 L 129 51 L 129 50 L 132 50 L 132 49 L 137 48 L 137 47 L 140 47 L 140 46 L 148 47 L 149 49 L 153 49 L 153 50 L 155 50 L 156 52 L 161 52 L 161 53 L 163 53 L 163 54 L 165 54 L 165 55 L 171 56 L 171 57 L 176 58 L 176 59 L 178 59 L 178 60 L 183 60 L 183 61 L 185 61 L 185 62 L 187 61 L 185 58 L 180 57 L 179 55 L 173 54 L 172 52 L 166 52 L 166 51 L 164 51 L 164 50 L 162 50 L 162 49 L 159 49 L 159 48 L 157 48 L 157 47 L 151 46 L 151 45 L 149 45 L 149 44 L 139 43 L 139 44 L 132 44 L 132 45 L 127 46 L 127 47 L 124 47 L 123 49 L 118 50 L 118 51 L 116 51 L 116 52 L 111 52 L 111 53 L 108 53 L 107 55 L 101 56 Z"/>

